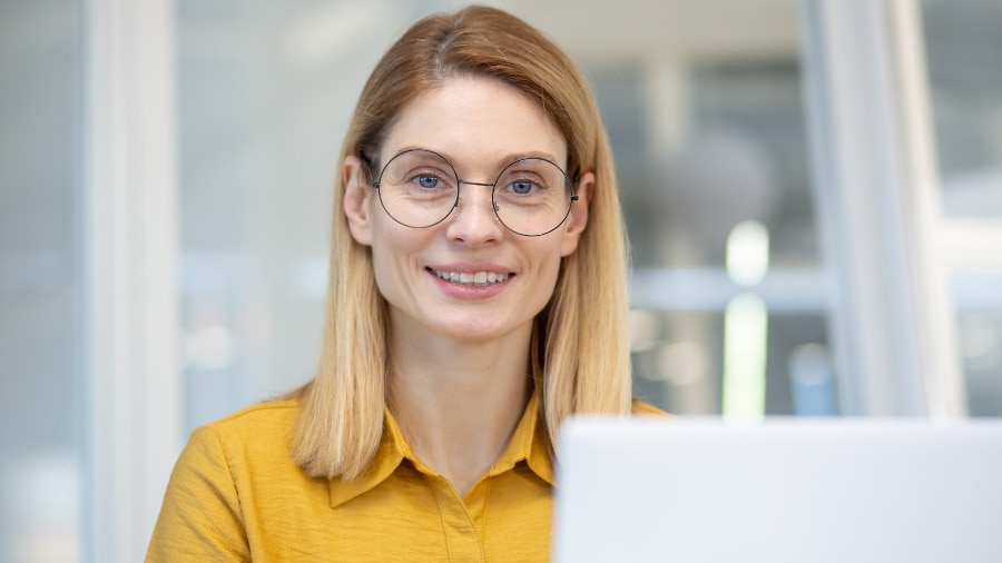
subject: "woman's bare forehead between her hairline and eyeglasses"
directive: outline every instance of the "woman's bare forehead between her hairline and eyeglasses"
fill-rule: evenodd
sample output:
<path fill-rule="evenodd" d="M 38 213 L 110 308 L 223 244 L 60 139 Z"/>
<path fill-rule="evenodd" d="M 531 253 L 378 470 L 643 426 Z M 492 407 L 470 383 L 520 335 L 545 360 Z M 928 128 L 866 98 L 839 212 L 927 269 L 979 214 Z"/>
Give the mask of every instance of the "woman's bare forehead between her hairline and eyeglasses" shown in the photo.
<path fill-rule="evenodd" d="M 460 77 L 422 93 L 399 116 L 382 147 L 386 157 L 410 148 L 434 150 L 458 171 L 539 154 L 567 161 L 567 141 L 542 103 L 498 79 Z"/>

